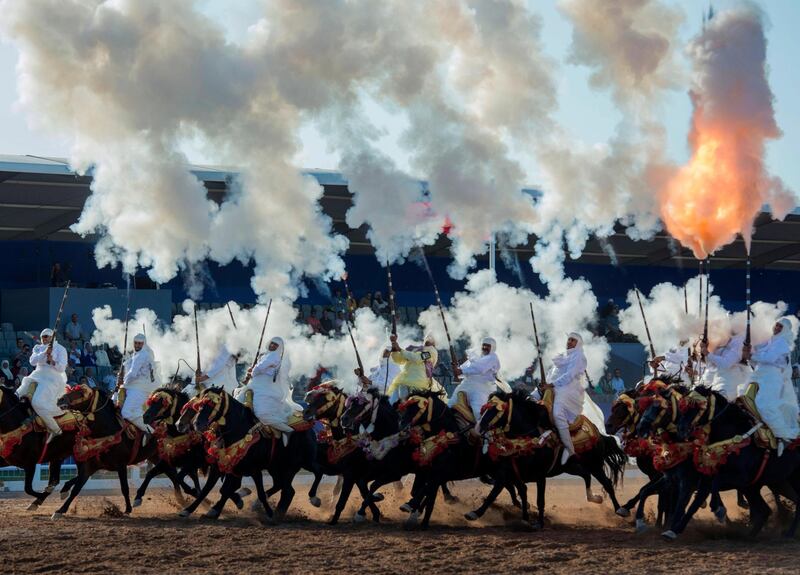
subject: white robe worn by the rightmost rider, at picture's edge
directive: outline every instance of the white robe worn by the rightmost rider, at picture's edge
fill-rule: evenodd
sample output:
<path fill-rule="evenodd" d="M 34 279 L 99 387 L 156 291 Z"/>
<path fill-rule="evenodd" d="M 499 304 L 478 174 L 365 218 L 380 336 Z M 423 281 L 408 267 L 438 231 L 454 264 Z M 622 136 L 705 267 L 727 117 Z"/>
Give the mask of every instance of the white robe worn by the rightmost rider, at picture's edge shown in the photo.
<path fill-rule="evenodd" d="M 786 329 L 786 328 L 784 328 Z M 756 407 L 776 437 L 792 440 L 800 434 L 797 423 L 797 397 L 792 385 L 791 347 L 781 332 L 757 346 L 751 356 L 755 365 L 753 380 L 758 383 Z"/>

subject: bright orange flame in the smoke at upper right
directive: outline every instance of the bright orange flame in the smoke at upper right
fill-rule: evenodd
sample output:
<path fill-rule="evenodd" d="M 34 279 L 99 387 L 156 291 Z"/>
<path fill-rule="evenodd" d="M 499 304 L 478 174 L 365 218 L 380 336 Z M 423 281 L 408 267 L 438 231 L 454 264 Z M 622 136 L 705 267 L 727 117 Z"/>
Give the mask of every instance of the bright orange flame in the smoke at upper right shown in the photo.
<path fill-rule="evenodd" d="M 749 243 L 752 223 L 762 207 L 757 162 L 742 157 L 735 129 L 698 128 L 694 152 L 661 194 L 667 230 L 698 259 L 742 234 Z"/>

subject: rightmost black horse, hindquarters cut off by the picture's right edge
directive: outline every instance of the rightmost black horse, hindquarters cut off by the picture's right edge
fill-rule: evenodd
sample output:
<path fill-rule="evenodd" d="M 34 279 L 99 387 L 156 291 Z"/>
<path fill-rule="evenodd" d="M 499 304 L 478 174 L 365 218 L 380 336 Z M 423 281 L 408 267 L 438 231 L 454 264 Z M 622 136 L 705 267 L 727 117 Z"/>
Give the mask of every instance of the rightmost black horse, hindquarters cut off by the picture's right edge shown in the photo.
<path fill-rule="evenodd" d="M 793 537 L 800 524 L 800 451 L 789 449 L 778 458 L 771 449 L 759 447 L 752 439 L 758 427 L 746 410 L 707 387 L 696 387 L 680 404 L 678 435 L 683 439 L 697 437 L 695 466 L 705 479 L 700 483 L 698 498 L 740 490 L 750 504 L 750 536 L 754 537 L 771 514 L 761 495 L 761 488 L 767 486 L 795 502 L 794 519 L 784 532 L 786 537 Z M 664 536 L 674 539 L 682 533 L 698 507 L 695 499 L 685 513 L 675 518 L 671 532 Z"/>

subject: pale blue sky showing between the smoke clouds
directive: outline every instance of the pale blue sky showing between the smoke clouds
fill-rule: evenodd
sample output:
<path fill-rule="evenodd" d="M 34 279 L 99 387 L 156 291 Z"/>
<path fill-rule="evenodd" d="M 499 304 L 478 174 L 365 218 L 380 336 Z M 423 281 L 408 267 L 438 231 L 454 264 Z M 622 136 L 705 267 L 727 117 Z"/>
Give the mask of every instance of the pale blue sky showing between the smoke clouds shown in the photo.
<path fill-rule="evenodd" d="M 730 1 L 717 1 L 715 9 L 723 9 Z M 620 112 L 613 105 L 610 94 L 592 89 L 588 83 L 588 70 L 567 62 L 571 40 L 571 26 L 558 11 L 555 0 L 528 0 L 531 9 L 543 19 L 543 40 L 548 54 L 557 61 L 556 76 L 559 81 L 559 111 L 557 118 L 573 137 L 587 146 L 602 145 L 614 136 Z M 676 0 L 685 19 L 681 38 L 685 43 L 697 33 L 702 24 L 706 2 Z M 797 54 L 800 41 L 800 1 L 760 0 L 756 2 L 767 15 L 769 81 L 775 95 L 775 110 L 783 137 L 768 143 L 768 167 L 773 175 L 781 177 L 788 187 L 800 194 L 800 74 L 797 73 Z M 253 0 L 200 0 L 201 9 L 222 26 L 228 38 L 235 41 L 258 18 L 258 2 Z M 31 154 L 39 156 L 69 155 L 70 142 L 35 131 L 17 108 L 15 65 L 17 53 L 13 45 L 0 43 L 0 74 L 6 79 L 0 84 L 0 154 Z M 685 62 L 684 62 L 685 64 Z M 688 73 L 688 66 L 684 66 Z M 668 130 L 668 153 L 682 163 L 688 157 L 686 135 L 691 115 L 691 105 L 686 92 L 688 78 L 681 82 L 683 88 L 669 92 L 659 102 L 658 114 L 664 118 Z M 381 125 L 386 135 L 383 150 L 401 167 L 407 167 L 406 154 L 397 143 L 403 120 L 379 106 L 371 109 L 372 120 Z M 314 126 L 307 126 L 300 134 L 302 149 L 295 162 L 299 168 L 336 169 L 338 157 L 326 147 Z M 184 150 L 195 163 L 216 163 L 213 151 L 194 142 L 187 142 Z M 520 158 L 527 172 L 528 182 L 536 185 L 539 176 L 533 158 Z M 419 174 L 424 177 L 424 174 Z"/>

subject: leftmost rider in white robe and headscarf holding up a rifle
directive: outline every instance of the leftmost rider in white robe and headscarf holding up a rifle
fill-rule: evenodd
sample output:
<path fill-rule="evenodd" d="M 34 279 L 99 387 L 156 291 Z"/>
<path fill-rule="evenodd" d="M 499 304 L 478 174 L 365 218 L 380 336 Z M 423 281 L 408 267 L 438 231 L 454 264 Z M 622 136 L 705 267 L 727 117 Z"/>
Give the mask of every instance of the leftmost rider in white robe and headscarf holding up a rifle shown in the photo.
<path fill-rule="evenodd" d="M 58 398 L 64 394 L 67 383 L 67 350 L 54 340 L 52 329 L 43 329 L 39 335 L 41 343 L 33 347 L 30 363 L 36 369 L 22 379 L 17 396 L 30 395 L 35 386 L 31 407 L 47 427 L 47 443 L 61 435 L 55 417 L 64 412 L 58 408 Z"/>

